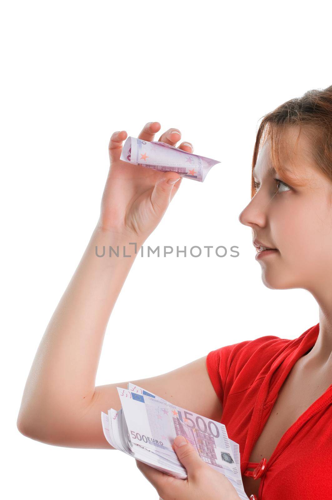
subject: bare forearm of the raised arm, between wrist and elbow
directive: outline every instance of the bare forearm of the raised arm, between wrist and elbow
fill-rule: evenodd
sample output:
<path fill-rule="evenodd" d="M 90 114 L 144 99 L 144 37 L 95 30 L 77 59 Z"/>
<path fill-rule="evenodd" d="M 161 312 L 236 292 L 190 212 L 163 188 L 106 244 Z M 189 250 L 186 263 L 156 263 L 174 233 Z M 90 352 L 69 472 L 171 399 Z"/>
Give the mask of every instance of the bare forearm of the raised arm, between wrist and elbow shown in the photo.
<path fill-rule="evenodd" d="M 141 243 L 98 228 L 64 291 L 40 341 L 18 415 L 22 428 L 32 422 L 84 409 L 95 389 L 95 376 L 109 315 Z M 109 257 L 109 246 L 116 251 Z M 105 246 L 103 257 L 102 247 Z M 123 246 L 125 254 L 123 256 Z M 54 414 L 54 411 L 56 415 Z M 36 424 L 36 423 L 35 423 Z"/>

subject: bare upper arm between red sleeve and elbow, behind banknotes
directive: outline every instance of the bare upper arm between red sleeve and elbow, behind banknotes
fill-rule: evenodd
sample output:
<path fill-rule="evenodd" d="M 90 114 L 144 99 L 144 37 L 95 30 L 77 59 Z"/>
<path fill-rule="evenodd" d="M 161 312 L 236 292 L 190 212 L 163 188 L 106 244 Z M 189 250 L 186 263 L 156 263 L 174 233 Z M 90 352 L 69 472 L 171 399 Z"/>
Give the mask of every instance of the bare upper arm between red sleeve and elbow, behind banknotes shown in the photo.
<path fill-rule="evenodd" d="M 177 406 L 212 420 L 221 420 L 222 405 L 206 369 L 206 356 L 161 375 L 128 381 Z M 126 389 L 128 381 L 96 386 L 91 400 L 81 414 L 77 415 L 75 425 L 71 425 L 70 432 L 57 436 L 57 442 L 53 443 L 71 447 L 113 449 L 104 437 L 100 412 L 107 413 L 109 408 L 120 409 L 116 387 Z"/>

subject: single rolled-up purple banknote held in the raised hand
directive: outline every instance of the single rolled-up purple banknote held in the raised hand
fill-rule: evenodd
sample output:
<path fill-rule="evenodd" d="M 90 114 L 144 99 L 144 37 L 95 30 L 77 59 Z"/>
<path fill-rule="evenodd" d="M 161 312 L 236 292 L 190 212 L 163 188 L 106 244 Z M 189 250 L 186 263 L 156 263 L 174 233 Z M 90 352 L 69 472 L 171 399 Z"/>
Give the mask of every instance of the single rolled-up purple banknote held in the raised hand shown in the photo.
<path fill-rule="evenodd" d="M 192 154 L 161 141 L 148 141 L 127 137 L 120 159 L 133 165 L 145 166 L 153 170 L 172 171 L 181 177 L 203 182 L 215 159 Z"/>

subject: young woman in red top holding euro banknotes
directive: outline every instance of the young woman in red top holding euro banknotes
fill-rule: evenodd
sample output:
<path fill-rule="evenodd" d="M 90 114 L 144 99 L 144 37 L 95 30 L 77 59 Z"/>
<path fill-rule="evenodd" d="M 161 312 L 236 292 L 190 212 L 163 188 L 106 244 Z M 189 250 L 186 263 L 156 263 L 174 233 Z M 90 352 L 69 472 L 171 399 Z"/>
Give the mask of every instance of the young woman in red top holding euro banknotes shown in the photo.
<path fill-rule="evenodd" d="M 154 140 L 159 129 L 158 122 L 147 123 L 138 137 Z M 120 161 L 126 136 L 122 130 L 110 139 L 99 220 L 47 325 L 26 381 L 17 426 L 24 435 L 46 443 L 111 448 L 102 432 L 100 411 L 120 407 L 116 386 L 126 388 L 127 381 L 95 386 L 105 328 L 135 258 L 128 243 L 136 241 L 138 251 L 181 183 L 175 172 Z M 159 140 L 175 145 L 180 137 L 178 130 L 169 129 Z M 186 142 L 178 147 L 192 150 Z M 168 373 L 131 381 L 222 421 L 229 437 L 239 443 L 243 485 L 251 498 L 328 498 L 332 493 L 332 85 L 308 91 L 263 117 L 252 158 L 251 200 L 239 220 L 251 227 L 263 283 L 269 288 L 308 290 L 318 303 L 319 322 L 294 340 L 283 338 L 289 333 L 285 329 L 280 337 L 265 335 L 227 345 Z M 96 245 L 125 245 L 127 254 L 131 248 L 131 258 L 96 258 Z M 192 383 L 198 394 L 191 393 Z M 188 446 L 181 453 L 176 448 L 188 470 L 185 481 L 139 465 L 162 498 L 238 498 L 222 482 L 224 476 L 202 465 Z M 203 466 L 210 475 L 206 469 L 197 473 Z"/>

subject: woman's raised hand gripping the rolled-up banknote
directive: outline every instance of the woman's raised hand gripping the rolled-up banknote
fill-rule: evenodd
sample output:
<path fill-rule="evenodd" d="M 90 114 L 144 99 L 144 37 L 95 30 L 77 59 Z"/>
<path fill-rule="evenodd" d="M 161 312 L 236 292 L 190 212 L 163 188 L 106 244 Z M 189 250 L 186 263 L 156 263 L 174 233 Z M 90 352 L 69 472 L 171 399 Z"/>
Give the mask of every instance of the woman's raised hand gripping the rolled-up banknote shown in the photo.
<path fill-rule="evenodd" d="M 138 138 L 152 141 L 159 129 L 158 121 L 146 123 Z M 127 133 L 122 130 L 114 132 L 109 141 L 110 167 L 98 226 L 143 242 L 162 218 L 179 188 L 181 177 L 176 172 L 161 172 L 120 160 L 122 143 L 126 138 Z M 169 128 L 158 140 L 174 146 L 180 138 L 179 130 Z M 178 147 L 187 152 L 193 150 L 192 145 L 185 142 Z M 169 180 L 173 182 L 169 183 Z"/>

